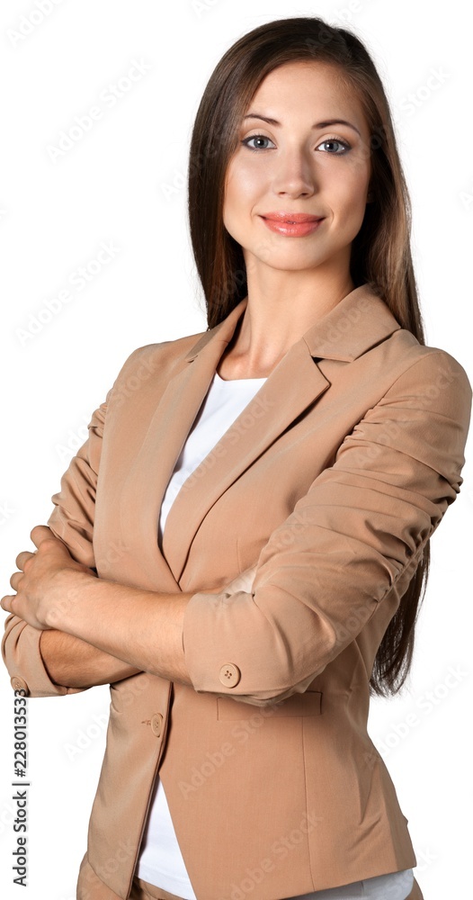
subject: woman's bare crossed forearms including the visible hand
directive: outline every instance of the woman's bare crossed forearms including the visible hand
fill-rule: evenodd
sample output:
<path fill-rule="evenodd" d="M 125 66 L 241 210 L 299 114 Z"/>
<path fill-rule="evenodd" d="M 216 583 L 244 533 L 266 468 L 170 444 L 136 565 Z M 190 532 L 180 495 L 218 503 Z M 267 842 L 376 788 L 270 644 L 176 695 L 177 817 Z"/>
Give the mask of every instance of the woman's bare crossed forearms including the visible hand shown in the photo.
<path fill-rule="evenodd" d="M 17 593 L 2 598 L 1 606 L 41 633 L 37 653 L 49 686 L 81 689 L 138 671 L 192 685 L 183 620 L 194 591 L 162 593 L 105 581 L 74 562 L 48 528 L 33 529 L 31 539 L 38 550 L 18 555 L 20 571 L 10 580 Z M 241 590 L 240 582 L 253 577 L 254 570 L 242 572 L 228 590 Z"/>

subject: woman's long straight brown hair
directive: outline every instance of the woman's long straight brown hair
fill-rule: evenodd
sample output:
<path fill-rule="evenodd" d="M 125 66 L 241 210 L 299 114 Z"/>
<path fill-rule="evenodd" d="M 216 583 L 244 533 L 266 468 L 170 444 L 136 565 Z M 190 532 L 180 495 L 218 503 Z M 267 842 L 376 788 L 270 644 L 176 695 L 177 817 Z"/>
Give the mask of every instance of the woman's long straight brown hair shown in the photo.
<path fill-rule="evenodd" d="M 279 19 L 244 34 L 219 60 L 201 98 L 189 157 L 192 249 L 207 304 L 209 328 L 247 294 L 242 247 L 223 224 L 225 176 L 238 130 L 254 92 L 272 69 L 296 60 L 330 62 L 359 95 L 370 130 L 370 192 L 353 241 L 353 284 L 369 284 L 402 328 L 424 344 L 411 256 L 411 208 L 388 99 L 367 49 L 351 31 L 316 17 Z M 383 636 L 370 691 L 396 694 L 414 652 L 414 626 L 429 569 L 430 546 Z"/>

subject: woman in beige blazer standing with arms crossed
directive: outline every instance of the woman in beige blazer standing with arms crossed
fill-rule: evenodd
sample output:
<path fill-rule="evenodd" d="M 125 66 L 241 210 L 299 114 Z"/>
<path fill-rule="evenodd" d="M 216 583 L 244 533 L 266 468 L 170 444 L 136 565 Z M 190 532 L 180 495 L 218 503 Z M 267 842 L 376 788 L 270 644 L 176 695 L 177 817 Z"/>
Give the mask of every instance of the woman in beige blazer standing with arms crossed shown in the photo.
<path fill-rule="evenodd" d="M 424 346 L 366 49 L 246 34 L 189 175 L 210 329 L 129 357 L 2 600 L 13 687 L 111 684 L 77 896 L 419 898 L 366 721 L 409 670 L 471 391 Z"/>

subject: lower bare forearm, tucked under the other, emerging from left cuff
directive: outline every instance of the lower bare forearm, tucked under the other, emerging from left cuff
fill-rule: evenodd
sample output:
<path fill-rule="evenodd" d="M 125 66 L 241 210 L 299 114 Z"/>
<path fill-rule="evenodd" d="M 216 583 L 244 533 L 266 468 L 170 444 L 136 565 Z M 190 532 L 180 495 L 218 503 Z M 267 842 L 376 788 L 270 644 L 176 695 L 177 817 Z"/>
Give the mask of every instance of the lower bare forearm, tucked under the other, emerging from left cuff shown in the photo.
<path fill-rule="evenodd" d="M 41 632 L 40 654 L 49 678 L 67 688 L 112 684 L 140 671 L 110 653 L 104 653 L 80 638 L 55 628 Z"/>

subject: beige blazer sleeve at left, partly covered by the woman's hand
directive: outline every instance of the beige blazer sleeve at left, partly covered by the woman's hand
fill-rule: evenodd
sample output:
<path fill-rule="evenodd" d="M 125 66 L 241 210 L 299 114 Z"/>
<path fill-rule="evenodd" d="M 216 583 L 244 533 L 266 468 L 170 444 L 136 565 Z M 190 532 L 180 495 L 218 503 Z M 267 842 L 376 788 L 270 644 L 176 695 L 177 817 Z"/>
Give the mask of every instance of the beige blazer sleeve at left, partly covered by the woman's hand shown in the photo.
<path fill-rule="evenodd" d="M 110 392 L 107 395 L 107 401 Z M 102 450 L 105 401 L 94 412 L 89 424 L 89 437 L 71 460 L 61 479 L 61 489 L 52 498 L 55 509 L 49 528 L 67 545 L 77 563 L 94 568 L 94 507 L 97 474 Z M 51 681 L 40 653 L 42 631 L 27 625 L 22 618 L 5 620 L 2 655 L 12 686 L 25 689 L 31 697 L 76 694 L 86 688 L 67 688 Z"/>

